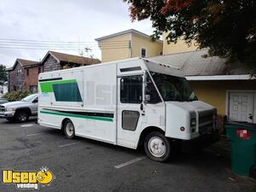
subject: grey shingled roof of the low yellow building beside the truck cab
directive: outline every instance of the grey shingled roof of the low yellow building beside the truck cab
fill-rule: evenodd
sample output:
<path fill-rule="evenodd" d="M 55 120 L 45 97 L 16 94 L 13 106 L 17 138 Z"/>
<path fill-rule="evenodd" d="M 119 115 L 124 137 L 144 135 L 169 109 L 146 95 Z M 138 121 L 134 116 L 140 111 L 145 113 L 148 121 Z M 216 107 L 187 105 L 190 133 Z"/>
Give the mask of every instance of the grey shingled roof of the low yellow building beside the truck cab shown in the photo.
<path fill-rule="evenodd" d="M 169 64 L 183 70 L 185 76 L 241 75 L 250 70 L 241 63 L 227 64 L 226 59 L 207 56 L 207 49 L 150 57 L 150 60 Z"/>

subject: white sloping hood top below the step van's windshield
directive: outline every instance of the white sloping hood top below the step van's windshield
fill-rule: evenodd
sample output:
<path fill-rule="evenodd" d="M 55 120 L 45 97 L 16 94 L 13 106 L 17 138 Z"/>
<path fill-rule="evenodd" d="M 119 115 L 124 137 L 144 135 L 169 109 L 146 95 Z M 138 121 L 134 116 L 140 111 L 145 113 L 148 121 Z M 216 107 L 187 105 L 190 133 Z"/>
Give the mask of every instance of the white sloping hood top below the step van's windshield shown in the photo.
<path fill-rule="evenodd" d="M 175 106 L 177 108 L 183 108 L 188 111 L 207 111 L 215 109 L 212 105 L 207 104 L 206 102 L 194 101 L 194 102 L 166 102 L 166 105 Z"/>

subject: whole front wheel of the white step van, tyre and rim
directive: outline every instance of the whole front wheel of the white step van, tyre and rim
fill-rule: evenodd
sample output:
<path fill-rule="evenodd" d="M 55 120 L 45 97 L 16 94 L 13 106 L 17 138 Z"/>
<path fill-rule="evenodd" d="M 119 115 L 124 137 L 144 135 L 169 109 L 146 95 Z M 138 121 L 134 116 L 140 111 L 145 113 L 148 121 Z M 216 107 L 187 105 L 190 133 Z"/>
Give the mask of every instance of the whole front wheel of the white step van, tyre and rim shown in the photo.
<path fill-rule="evenodd" d="M 171 154 L 171 143 L 160 132 L 151 132 L 145 138 L 144 150 L 149 159 L 164 162 Z"/>

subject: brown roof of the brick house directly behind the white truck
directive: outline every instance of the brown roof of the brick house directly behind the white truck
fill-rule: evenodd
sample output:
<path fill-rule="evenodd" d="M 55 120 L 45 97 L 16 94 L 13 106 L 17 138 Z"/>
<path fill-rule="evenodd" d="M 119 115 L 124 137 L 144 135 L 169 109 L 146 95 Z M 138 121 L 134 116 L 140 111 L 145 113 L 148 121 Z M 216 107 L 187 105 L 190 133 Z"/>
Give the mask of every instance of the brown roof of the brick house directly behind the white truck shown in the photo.
<path fill-rule="evenodd" d="M 48 51 L 48 53 L 44 56 L 44 59 L 41 62 L 44 63 L 44 61 L 49 55 L 52 55 L 58 61 L 67 62 L 67 63 L 90 65 L 90 64 L 97 64 L 101 62 L 98 59 L 92 59 L 89 57 L 78 56 L 78 55 L 63 54 L 63 53 L 59 53 L 51 50 Z"/>

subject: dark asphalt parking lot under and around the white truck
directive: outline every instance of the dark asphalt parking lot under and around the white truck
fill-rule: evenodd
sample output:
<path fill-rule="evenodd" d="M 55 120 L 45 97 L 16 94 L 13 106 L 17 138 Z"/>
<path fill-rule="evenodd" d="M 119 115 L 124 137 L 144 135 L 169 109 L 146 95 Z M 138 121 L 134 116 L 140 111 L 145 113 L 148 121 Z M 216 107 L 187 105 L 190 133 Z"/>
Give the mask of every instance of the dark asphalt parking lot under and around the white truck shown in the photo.
<path fill-rule="evenodd" d="M 0 119 L 0 167 L 39 171 L 49 167 L 55 179 L 41 191 L 256 191 L 256 182 L 230 172 L 225 140 L 201 154 L 177 154 L 168 163 L 148 160 L 132 150 L 77 137 L 61 131 Z M 0 191 L 15 185 L 0 184 Z"/>

